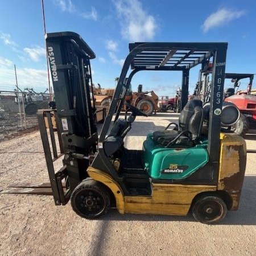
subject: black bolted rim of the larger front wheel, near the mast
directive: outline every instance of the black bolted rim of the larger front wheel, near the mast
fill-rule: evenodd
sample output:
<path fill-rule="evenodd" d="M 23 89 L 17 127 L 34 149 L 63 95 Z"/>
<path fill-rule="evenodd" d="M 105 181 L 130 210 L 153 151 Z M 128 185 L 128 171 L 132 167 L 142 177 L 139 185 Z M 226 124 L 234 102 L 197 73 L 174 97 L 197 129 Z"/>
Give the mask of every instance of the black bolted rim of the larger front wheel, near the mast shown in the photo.
<path fill-rule="evenodd" d="M 100 193 L 83 189 L 75 199 L 77 210 L 86 216 L 94 217 L 101 214 L 105 208 L 105 201 Z"/>

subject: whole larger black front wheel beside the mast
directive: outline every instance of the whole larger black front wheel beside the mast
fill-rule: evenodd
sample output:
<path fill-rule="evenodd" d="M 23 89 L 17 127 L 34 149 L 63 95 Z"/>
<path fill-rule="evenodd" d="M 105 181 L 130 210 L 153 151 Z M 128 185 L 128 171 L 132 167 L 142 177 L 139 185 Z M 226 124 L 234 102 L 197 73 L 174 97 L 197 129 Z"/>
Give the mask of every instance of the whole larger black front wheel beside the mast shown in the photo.
<path fill-rule="evenodd" d="M 85 179 L 74 189 L 71 205 L 83 218 L 98 218 L 106 214 L 110 208 L 109 192 L 98 181 Z"/>

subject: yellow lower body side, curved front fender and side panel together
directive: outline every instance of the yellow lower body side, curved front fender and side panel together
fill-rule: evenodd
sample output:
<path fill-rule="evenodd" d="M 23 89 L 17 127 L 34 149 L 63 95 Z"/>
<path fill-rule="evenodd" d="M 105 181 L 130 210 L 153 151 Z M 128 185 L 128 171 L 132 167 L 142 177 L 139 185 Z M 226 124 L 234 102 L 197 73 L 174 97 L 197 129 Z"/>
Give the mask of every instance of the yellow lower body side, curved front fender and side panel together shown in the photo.
<path fill-rule="evenodd" d="M 214 185 L 152 183 L 151 196 L 124 196 L 117 181 L 106 172 L 93 167 L 88 167 L 87 172 L 113 192 L 119 213 L 186 215 L 198 193 L 216 191 Z"/>

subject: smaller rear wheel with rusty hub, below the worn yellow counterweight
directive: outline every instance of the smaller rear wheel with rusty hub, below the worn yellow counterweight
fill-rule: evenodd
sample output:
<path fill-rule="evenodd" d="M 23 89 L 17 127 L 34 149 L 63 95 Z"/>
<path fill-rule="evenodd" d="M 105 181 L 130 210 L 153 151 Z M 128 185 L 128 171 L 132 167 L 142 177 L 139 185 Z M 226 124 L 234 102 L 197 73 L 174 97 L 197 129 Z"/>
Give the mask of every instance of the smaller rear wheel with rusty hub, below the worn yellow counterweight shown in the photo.
<path fill-rule="evenodd" d="M 225 218 L 226 212 L 225 202 L 216 195 L 201 196 L 192 206 L 193 217 L 203 224 L 216 224 Z"/>

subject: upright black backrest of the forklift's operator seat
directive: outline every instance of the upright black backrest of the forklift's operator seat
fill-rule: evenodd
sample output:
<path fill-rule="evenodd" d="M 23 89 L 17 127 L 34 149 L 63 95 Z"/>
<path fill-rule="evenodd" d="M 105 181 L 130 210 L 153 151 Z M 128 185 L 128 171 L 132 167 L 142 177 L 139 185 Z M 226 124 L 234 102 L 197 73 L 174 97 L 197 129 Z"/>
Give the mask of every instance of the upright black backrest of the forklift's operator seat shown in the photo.
<path fill-rule="evenodd" d="M 184 106 L 180 113 L 180 131 L 189 131 L 192 134 L 192 141 L 197 141 L 203 125 L 203 105 L 200 100 L 191 100 Z"/>

